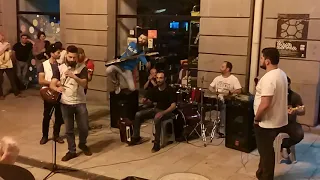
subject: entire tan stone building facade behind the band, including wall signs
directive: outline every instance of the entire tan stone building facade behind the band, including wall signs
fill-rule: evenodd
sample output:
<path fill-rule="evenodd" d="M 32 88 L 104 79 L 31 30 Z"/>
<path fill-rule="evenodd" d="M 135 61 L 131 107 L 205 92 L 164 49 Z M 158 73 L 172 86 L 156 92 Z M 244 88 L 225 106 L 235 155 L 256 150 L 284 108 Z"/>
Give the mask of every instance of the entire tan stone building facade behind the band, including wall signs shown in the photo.
<path fill-rule="evenodd" d="M 88 96 L 97 101 L 108 98 L 104 62 L 115 56 L 116 7 L 119 12 L 135 13 L 133 2 L 136 1 L 118 1 L 121 1 L 120 6 L 116 5 L 116 0 L 92 0 L 90 3 L 60 0 L 61 39 L 66 45 L 83 47 L 88 57 L 95 60 L 96 70 Z M 16 42 L 15 1 L 0 0 L 0 3 L 0 29 L 10 42 Z M 200 7 L 198 86 L 208 87 L 219 74 L 220 64 L 230 61 L 234 65 L 233 73 L 248 89 L 250 65 L 259 61 L 259 57 L 251 58 L 255 1 L 201 0 Z M 310 126 L 318 124 L 319 114 L 319 28 L 318 0 L 263 3 L 259 48 L 282 48 L 280 68 L 290 76 L 292 89 L 302 96 L 306 106 L 306 115 L 299 121 Z M 261 77 L 264 71 L 257 70 Z"/>

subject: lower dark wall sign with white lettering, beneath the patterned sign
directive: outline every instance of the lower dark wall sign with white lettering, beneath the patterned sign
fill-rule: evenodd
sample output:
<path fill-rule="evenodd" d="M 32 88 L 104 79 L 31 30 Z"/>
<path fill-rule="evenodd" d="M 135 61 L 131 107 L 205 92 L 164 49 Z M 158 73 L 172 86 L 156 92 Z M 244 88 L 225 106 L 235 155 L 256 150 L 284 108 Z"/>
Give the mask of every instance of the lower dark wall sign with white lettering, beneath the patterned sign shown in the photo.
<path fill-rule="evenodd" d="M 306 58 L 307 42 L 305 41 L 281 41 L 276 42 L 276 48 L 281 57 Z"/>

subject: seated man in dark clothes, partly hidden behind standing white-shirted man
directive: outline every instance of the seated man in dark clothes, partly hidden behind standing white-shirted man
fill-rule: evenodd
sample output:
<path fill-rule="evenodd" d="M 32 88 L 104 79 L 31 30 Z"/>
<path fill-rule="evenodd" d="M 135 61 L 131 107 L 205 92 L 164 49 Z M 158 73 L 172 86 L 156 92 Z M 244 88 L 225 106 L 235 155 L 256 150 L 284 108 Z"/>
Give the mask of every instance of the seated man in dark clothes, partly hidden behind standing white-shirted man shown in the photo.
<path fill-rule="evenodd" d="M 297 116 L 305 114 L 305 108 L 301 96 L 291 90 L 291 79 L 288 78 L 288 125 L 285 127 L 289 138 L 283 139 L 281 149 L 282 156 L 289 160 L 290 147 L 298 144 L 304 138 L 301 124 L 297 122 Z"/>

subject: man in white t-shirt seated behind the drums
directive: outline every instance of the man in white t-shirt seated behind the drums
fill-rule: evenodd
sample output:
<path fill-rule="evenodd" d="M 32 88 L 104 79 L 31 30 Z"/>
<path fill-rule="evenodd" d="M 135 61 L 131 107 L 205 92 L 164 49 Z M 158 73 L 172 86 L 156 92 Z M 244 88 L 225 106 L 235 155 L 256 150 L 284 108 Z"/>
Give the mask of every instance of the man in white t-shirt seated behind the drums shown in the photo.
<path fill-rule="evenodd" d="M 222 63 L 220 67 L 221 75 L 214 78 L 212 83 L 209 86 L 209 90 L 213 93 L 221 93 L 219 95 L 219 99 L 223 100 L 223 97 L 229 94 L 240 94 L 241 93 L 241 85 L 237 77 L 231 74 L 232 64 L 228 61 Z M 221 123 L 225 124 L 226 119 L 226 106 L 223 103 L 220 103 L 220 120 Z M 218 133 L 220 137 L 224 135 L 222 133 Z"/>

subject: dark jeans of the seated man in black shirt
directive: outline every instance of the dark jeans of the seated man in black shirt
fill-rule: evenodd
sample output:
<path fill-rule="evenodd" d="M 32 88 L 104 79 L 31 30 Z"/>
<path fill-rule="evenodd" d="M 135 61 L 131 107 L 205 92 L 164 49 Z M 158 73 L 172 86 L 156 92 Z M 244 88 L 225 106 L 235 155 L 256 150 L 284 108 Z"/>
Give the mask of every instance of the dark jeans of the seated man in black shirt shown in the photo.
<path fill-rule="evenodd" d="M 141 110 L 136 113 L 134 122 L 133 122 L 133 137 L 134 138 L 139 138 L 140 137 L 140 126 L 143 123 L 144 120 L 146 119 L 151 119 L 154 118 L 154 116 L 158 113 L 161 112 L 162 110 L 160 109 L 155 109 L 155 108 L 149 108 L 145 110 Z M 155 143 L 160 143 L 160 135 L 161 135 L 161 122 L 163 120 L 167 120 L 173 116 L 172 113 L 164 115 L 161 119 L 154 119 L 154 124 L 155 124 Z"/>

